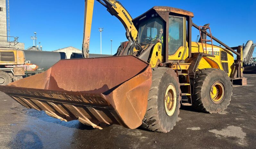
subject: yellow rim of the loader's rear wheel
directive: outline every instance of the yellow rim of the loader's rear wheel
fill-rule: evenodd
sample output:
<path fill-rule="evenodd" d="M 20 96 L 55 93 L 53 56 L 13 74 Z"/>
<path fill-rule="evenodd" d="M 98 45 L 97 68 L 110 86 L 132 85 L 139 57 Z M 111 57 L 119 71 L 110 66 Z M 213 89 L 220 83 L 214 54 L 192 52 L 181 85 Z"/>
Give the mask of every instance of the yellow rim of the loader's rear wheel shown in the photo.
<path fill-rule="evenodd" d="M 224 85 L 221 82 L 214 82 L 210 89 L 210 98 L 214 103 L 220 103 L 225 96 Z"/>

